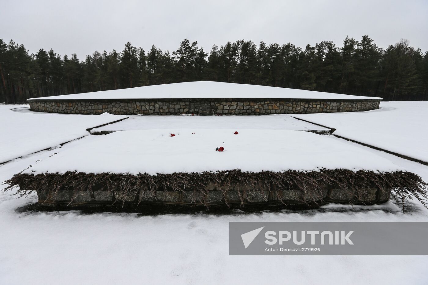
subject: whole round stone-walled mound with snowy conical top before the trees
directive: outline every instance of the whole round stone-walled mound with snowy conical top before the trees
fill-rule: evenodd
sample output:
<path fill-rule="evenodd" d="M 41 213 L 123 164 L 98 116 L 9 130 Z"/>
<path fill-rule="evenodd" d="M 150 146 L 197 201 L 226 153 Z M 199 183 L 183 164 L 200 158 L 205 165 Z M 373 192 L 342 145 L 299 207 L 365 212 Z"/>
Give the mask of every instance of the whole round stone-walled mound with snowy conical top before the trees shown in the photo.
<path fill-rule="evenodd" d="M 368 111 L 382 98 L 250 84 L 196 81 L 27 99 L 65 114 L 269 115 Z"/>

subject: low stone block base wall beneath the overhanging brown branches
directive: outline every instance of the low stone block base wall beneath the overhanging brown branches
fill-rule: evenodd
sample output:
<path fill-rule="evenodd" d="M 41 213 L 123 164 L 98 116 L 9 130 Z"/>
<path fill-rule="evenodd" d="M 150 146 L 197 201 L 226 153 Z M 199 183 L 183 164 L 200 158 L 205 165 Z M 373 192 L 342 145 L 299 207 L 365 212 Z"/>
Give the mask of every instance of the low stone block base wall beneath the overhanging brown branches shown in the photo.
<path fill-rule="evenodd" d="M 73 206 L 93 207 L 93 206 L 113 206 L 115 204 L 135 207 L 138 205 L 160 204 L 160 205 L 281 205 L 282 208 L 294 208 L 296 206 L 306 207 L 309 204 L 314 208 L 328 203 L 354 205 L 381 204 L 389 201 L 391 191 L 381 191 L 378 188 L 360 190 L 359 193 L 347 193 L 342 189 L 327 188 L 322 191 L 322 197 L 316 200 L 306 200 L 303 202 L 303 193 L 300 190 L 257 190 L 247 191 L 245 196 L 243 190 L 223 191 L 155 191 L 154 195 L 145 193 L 140 197 L 138 191 L 124 192 L 115 190 L 107 191 L 44 191 L 37 190 L 39 204 L 46 206 L 63 205 L 68 208 Z M 281 199 L 279 200 L 278 197 Z M 358 198 L 357 198 L 358 197 Z M 308 204 L 309 203 L 309 204 Z"/>

